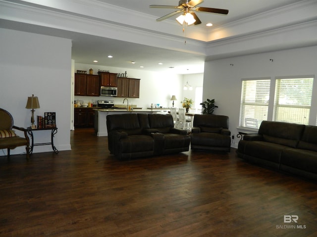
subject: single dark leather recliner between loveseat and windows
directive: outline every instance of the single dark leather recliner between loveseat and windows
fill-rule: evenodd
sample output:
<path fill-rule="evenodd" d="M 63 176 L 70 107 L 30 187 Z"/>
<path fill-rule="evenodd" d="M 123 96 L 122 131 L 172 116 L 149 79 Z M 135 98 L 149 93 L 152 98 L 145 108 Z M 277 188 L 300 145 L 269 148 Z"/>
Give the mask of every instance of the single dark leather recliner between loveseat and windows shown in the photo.
<path fill-rule="evenodd" d="M 191 133 L 191 149 L 230 152 L 229 117 L 195 115 Z"/>

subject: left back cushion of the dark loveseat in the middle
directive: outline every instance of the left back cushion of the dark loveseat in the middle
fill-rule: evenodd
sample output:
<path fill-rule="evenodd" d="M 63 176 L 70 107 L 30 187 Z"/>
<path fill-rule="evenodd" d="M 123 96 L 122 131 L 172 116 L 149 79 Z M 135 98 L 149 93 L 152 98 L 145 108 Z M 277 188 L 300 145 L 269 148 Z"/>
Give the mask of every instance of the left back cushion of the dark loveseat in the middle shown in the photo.
<path fill-rule="evenodd" d="M 113 130 L 126 132 L 128 135 L 137 135 L 142 133 L 137 114 L 107 115 L 108 133 Z"/>

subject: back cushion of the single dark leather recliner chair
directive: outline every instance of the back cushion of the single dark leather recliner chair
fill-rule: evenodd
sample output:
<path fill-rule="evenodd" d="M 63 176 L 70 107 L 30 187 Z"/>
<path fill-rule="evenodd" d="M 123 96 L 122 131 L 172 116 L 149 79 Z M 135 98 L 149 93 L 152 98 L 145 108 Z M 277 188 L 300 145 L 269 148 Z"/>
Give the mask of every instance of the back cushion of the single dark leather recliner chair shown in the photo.
<path fill-rule="evenodd" d="M 229 128 L 229 117 L 224 115 L 195 115 L 194 127 L 200 127 L 201 132 L 219 133 L 222 128 Z"/>

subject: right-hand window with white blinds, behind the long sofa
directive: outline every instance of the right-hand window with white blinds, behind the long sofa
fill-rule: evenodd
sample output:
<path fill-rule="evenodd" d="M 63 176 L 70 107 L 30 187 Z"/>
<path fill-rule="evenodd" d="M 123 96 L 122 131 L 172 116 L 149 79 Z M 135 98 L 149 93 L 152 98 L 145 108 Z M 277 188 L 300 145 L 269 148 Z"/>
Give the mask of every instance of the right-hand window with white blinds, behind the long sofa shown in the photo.
<path fill-rule="evenodd" d="M 276 78 L 274 121 L 308 124 L 314 78 Z"/>

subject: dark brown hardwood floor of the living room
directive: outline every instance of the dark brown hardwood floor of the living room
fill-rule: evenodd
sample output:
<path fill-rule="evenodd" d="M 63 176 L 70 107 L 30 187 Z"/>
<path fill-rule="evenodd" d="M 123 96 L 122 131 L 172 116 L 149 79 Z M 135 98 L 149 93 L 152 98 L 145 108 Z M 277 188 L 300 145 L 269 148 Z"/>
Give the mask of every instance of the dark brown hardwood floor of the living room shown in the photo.
<path fill-rule="evenodd" d="M 92 129 L 71 145 L 0 157 L 0 237 L 317 236 L 317 183 L 235 149 L 119 161 Z"/>

